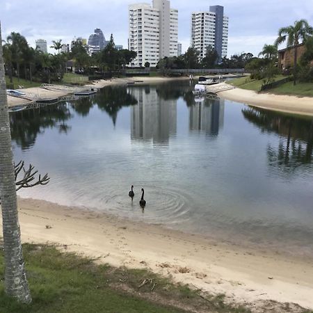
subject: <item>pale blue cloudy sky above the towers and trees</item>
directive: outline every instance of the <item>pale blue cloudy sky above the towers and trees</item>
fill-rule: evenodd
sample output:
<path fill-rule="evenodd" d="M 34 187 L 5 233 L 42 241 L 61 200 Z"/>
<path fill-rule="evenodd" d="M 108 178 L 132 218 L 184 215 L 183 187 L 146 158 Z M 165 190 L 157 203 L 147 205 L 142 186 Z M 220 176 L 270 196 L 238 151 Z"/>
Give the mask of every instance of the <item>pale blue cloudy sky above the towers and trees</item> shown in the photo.
<path fill-rule="evenodd" d="M 88 38 L 100 28 L 107 39 L 113 33 L 115 44 L 127 47 L 128 5 L 144 2 L 131 0 L 0 0 L 2 37 L 19 32 L 30 45 L 43 38 L 62 39 L 63 43 L 77 37 Z M 152 3 L 151 1 L 145 1 Z M 188 48 L 191 33 L 191 13 L 209 10 L 209 6 L 224 6 L 230 18 L 228 56 L 252 52 L 257 55 L 264 44 L 272 44 L 278 29 L 307 19 L 313 25 L 313 0 L 172 0 L 179 10 L 179 42 Z M 53 49 L 49 50 L 54 52 Z"/>

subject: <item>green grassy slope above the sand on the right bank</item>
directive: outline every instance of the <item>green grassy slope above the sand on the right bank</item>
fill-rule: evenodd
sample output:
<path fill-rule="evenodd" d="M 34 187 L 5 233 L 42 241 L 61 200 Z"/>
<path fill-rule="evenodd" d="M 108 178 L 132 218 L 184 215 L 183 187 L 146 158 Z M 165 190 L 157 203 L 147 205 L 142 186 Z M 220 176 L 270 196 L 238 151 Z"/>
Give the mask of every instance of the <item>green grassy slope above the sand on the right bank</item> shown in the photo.
<path fill-rule="evenodd" d="M 275 77 L 275 81 L 279 81 L 281 79 L 284 79 L 283 75 L 277 75 Z M 263 81 L 257 80 L 257 79 L 250 79 L 250 77 L 241 77 L 237 79 L 232 79 L 230 81 L 227 81 L 227 83 L 230 83 L 231 85 L 242 88 L 242 89 L 248 89 L 248 90 L 255 90 L 259 91 Z M 313 83 L 296 83 L 296 86 L 294 86 L 293 81 L 288 81 L 287 83 L 282 83 L 282 85 L 268 89 L 264 91 L 264 93 L 275 93 L 277 95 L 298 95 L 303 97 L 313 97 Z"/>

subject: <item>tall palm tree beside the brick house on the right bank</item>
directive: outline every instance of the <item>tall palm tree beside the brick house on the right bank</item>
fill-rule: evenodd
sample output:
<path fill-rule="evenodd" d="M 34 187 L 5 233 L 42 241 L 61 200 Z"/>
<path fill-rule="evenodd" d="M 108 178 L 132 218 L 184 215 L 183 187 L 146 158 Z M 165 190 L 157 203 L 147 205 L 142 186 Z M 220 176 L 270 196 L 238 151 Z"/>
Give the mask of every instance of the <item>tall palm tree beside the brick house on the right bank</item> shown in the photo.
<path fill-rule="evenodd" d="M 300 42 L 305 42 L 308 36 L 313 35 L 312 26 L 307 23 L 306 19 L 294 22 L 294 25 L 282 27 L 278 31 L 278 38 L 275 40 L 275 45 L 278 46 L 287 40 L 287 47 L 294 46 L 294 85 L 296 85 L 296 67 L 297 67 L 297 53 Z"/>

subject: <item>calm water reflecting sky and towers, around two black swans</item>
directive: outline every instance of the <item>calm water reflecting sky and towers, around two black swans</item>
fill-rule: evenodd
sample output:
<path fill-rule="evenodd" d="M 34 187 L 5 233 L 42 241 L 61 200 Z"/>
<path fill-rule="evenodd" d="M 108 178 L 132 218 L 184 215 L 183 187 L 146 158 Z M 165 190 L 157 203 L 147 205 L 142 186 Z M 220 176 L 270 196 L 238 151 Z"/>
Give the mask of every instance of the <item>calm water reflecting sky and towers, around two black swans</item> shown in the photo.
<path fill-rule="evenodd" d="M 109 87 L 13 113 L 15 161 L 51 177 L 19 195 L 312 255 L 313 120 L 192 88 Z"/>

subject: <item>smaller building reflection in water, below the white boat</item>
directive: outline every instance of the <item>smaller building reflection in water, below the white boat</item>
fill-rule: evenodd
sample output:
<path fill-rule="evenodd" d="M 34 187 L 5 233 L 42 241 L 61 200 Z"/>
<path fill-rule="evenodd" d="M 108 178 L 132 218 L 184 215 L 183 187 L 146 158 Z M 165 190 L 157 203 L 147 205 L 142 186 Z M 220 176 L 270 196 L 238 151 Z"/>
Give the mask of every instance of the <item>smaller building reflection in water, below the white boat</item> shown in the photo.
<path fill-rule="evenodd" d="M 203 131 L 207 135 L 218 135 L 223 128 L 224 100 L 195 97 L 195 104 L 189 106 L 189 130 Z"/>

